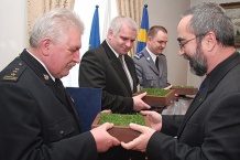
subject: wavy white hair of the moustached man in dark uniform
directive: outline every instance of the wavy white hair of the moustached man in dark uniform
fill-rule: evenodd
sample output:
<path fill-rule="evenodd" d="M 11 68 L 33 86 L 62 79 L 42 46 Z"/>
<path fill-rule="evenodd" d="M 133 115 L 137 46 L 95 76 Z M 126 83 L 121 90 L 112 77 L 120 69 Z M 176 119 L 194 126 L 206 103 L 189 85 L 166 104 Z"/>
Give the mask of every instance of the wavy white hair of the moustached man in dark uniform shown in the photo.
<path fill-rule="evenodd" d="M 44 38 L 54 42 L 66 42 L 70 28 L 84 33 L 84 23 L 75 12 L 63 8 L 54 9 L 36 20 L 30 34 L 30 45 L 39 46 Z"/>

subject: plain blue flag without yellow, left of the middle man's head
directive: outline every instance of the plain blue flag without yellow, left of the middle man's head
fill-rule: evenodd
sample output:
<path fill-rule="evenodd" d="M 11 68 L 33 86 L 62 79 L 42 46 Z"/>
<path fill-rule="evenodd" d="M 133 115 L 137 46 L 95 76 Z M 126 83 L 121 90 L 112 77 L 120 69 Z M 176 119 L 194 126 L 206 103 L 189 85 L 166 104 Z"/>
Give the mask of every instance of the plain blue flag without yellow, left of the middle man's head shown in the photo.
<path fill-rule="evenodd" d="M 100 44 L 99 18 L 98 18 L 98 6 L 96 6 L 95 14 L 91 22 L 89 49 L 97 47 L 99 44 Z"/>

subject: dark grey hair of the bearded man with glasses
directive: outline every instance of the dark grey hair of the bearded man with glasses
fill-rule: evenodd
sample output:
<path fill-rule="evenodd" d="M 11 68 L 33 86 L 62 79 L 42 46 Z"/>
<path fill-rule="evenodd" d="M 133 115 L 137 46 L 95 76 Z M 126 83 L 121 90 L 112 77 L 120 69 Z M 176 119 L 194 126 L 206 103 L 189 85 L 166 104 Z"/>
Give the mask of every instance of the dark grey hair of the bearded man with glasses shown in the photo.
<path fill-rule="evenodd" d="M 188 31 L 195 35 L 205 35 L 212 31 L 216 39 L 222 46 L 234 45 L 234 31 L 231 19 L 223 9 L 212 2 L 203 2 L 184 12 L 183 17 L 193 15 L 188 25 Z M 201 41 L 199 38 L 198 41 Z"/>

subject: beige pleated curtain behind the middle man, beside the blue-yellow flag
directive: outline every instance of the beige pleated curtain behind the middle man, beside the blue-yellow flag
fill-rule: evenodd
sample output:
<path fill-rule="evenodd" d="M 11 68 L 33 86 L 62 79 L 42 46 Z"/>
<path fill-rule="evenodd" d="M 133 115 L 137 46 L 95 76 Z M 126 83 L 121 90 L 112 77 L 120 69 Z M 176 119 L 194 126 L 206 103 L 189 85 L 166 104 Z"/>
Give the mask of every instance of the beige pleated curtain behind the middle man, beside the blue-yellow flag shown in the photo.
<path fill-rule="evenodd" d="M 142 0 L 117 0 L 117 8 L 118 8 L 119 15 L 127 15 L 132 18 L 137 22 L 138 26 L 140 28 L 142 8 L 143 8 Z M 131 57 L 134 55 L 135 50 L 137 50 L 137 40 L 132 50 L 129 53 Z"/>

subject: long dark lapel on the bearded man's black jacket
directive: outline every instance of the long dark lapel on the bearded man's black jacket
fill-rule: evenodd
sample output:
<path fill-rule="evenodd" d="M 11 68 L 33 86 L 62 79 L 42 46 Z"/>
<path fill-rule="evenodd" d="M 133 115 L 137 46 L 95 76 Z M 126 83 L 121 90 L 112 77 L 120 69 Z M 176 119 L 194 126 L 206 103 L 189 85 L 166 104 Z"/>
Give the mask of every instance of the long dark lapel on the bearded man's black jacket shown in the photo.
<path fill-rule="evenodd" d="M 187 113 L 184 117 L 184 120 L 178 129 L 177 137 L 179 138 L 186 122 L 189 120 L 189 118 L 193 116 L 193 114 L 197 110 L 197 108 L 205 102 L 208 94 L 214 92 L 219 82 L 225 77 L 225 75 L 233 68 L 236 65 L 240 64 L 240 55 L 239 53 L 234 53 L 230 57 L 228 57 L 226 61 L 220 63 L 205 79 L 205 88 L 203 92 L 196 96 L 190 104 L 189 108 L 187 109 Z"/>

